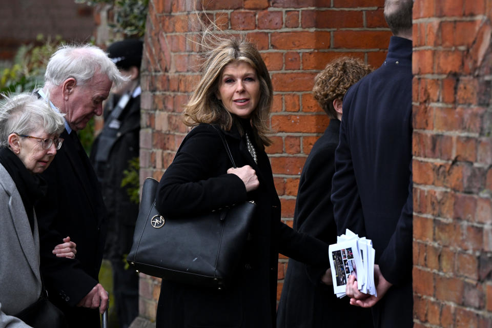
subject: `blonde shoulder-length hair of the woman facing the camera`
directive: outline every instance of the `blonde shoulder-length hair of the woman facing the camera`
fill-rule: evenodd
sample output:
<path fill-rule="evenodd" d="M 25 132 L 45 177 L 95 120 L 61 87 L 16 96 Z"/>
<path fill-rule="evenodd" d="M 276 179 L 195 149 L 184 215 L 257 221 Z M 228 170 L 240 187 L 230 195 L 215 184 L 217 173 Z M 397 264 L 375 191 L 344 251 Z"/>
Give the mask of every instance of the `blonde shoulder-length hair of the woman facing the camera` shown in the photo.
<path fill-rule="evenodd" d="M 215 26 L 215 25 L 213 25 Z M 226 36 L 224 36 L 226 35 Z M 244 61 L 253 67 L 260 82 L 260 99 L 251 115 L 251 124 L 258 146 L 269 146 L 271 133 L 268 125 L 273 101 L 273 87 L 263 58 L 255 45 L 244 36 L 232 36 L 221 32 L 221 36 L 205 29 L 200 46 L 205 50 L 200 65 L 201 78 L 188 103 L 184 106 L 183 121 L 194 127 L 200 123 L 216 124 L 224 131 L 231 130 L 233 116 L 217 98 L 220 76 L 224 68 L 231 63 Z M 239 133 L 243 131 L 237 124 Z"/>

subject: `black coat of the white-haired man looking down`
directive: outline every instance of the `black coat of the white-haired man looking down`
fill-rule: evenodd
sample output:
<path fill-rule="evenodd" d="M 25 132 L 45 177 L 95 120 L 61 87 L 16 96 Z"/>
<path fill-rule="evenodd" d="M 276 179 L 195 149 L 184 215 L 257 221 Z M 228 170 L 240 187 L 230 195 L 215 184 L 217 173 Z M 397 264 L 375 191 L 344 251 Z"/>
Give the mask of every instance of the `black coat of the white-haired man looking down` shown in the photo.
<path fill-rule="evenodd" d="M 78 308 L 98 282 L 106 236 L 106 210 L 99 182 L 80 143 L 65 130 L 65 139 L 50 167 L 42 173 L 48 193 L 35 208 L 39 224 L 41 271 L 49 299 L 71 327 L 97 327 L 97 309 Z M 51 252 L 63 238 L 77 244 L 75 259 Z"/>

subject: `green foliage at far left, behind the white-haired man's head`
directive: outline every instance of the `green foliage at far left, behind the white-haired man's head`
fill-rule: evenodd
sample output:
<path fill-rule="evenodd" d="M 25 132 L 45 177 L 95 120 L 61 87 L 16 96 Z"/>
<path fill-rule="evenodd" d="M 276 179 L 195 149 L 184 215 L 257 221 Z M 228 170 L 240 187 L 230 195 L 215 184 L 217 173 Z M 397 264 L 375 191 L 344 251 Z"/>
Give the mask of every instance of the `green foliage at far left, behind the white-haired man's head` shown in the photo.
<path fill-rule="evenodd" d="M 12 67 L 0 70 L 0 92 L 30 92 L 43 86 L 48 60 L 61 42 L 60 36 L 52 40 L 39 34 L 36 44 L 20 46 Z"/>

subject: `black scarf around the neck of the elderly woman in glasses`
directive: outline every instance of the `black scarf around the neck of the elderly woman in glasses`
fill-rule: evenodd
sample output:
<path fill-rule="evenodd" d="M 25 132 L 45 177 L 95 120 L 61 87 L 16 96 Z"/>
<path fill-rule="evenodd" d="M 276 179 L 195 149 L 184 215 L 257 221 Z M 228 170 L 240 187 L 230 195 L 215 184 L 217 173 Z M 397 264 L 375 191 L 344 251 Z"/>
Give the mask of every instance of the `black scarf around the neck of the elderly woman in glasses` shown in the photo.
<path fill-rule="evenodd" d="M 14 180 L 20 198 L 24 203 L 27 218 L 31 226 L 31 232 L 34 232 L 34 204 L 36 201 L 45 196 L 48 185 L 46 181 L 38 174 L 29 172 L 22 160 L 6 147 L 0 148 L 0 164 L 10 174 Z"/>

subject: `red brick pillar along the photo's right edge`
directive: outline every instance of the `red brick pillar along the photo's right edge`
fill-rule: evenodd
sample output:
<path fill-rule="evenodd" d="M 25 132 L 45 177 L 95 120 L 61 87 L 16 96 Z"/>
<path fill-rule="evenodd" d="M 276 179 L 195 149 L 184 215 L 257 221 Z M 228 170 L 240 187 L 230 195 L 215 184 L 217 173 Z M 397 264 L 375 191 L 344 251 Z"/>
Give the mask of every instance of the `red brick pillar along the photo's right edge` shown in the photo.
<path fill-rule="evenodd" d="M 492 1 L 416 0 L 415 327 L 491 327 Z"/>

